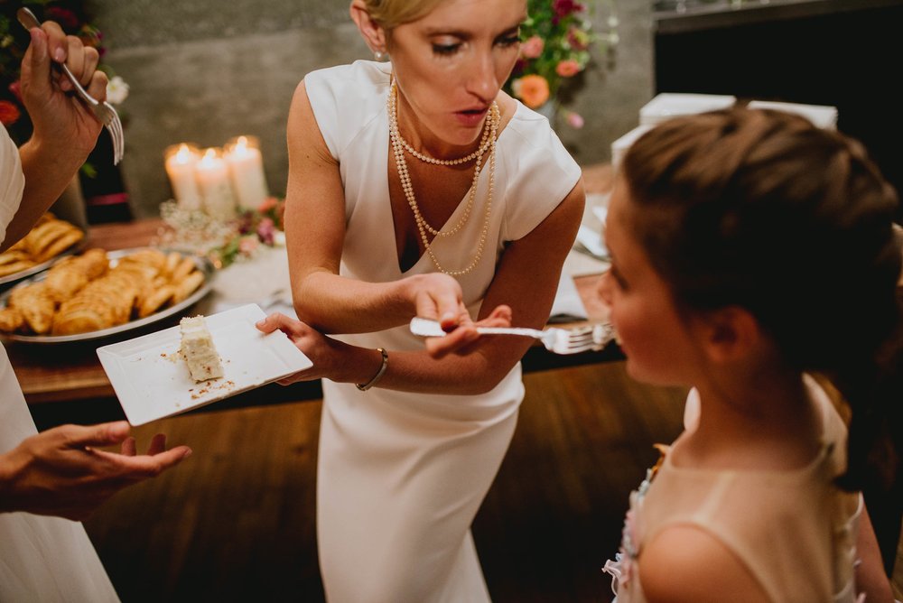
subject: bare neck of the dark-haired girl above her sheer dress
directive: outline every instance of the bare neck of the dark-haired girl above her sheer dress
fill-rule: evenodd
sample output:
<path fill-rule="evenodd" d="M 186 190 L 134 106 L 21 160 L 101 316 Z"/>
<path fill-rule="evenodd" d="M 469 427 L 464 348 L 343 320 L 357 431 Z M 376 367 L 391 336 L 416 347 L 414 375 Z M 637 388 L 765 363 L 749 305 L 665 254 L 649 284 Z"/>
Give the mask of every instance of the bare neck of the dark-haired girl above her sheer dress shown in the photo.
<path fill-rule="evenodd" d="M 698 428 L 679 441 L 676 464 L 698 468 L 805 467 L 821 447 L 821 415 L 796 372 L 697 385 Z"/>

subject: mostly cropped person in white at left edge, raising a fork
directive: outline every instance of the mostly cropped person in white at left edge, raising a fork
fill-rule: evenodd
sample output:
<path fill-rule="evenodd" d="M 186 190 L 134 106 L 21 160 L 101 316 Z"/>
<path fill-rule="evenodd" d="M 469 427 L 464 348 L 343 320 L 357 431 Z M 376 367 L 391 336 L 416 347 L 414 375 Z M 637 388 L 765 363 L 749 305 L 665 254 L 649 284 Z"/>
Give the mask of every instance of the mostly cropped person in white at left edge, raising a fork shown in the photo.
<path fill-rule="evenodd" d="M 0 250 L 22 238 L 60 196 L 94 147 L 101 125 L 67 94 L 64 62 L 88 93 L 106 97 L 98 52 L 65 36 L 57 23 L 32 30 L 22 64 L 23 103 L 34 134 L 17 149 L 0 128 Z M 152 478 L 191 452 L 154 438 L 135 455 L 128 423 L 63 425 L 38 433 L 0 346 L 0 601 L 118 601 L 82 524 L 117 491 Z M 95 447 L 122 443 L 123 454 Z M 54 515 L 54 516 L 50 516 Z"/>

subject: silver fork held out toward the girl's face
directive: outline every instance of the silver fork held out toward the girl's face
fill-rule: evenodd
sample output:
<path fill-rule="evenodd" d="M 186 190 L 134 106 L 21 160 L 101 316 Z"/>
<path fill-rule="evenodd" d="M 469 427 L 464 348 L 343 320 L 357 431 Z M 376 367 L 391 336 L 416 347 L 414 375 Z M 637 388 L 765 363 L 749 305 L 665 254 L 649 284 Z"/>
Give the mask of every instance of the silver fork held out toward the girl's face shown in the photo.
<path fill-rule="evenodd" d="M 442 326 L 435 320 L 411 319 L 411 332 L 420 337 L 443 337 L 447 335 Z M 477 327 L 482 335 L 519 335 L 539 339 L 542 344 L 555 354 L 577 354 L 590 350 L 600 350 L 615 339 L 614 329 L 610 324 L 587 325 L 576 329 L 524 329 L 520 327 Z"/>

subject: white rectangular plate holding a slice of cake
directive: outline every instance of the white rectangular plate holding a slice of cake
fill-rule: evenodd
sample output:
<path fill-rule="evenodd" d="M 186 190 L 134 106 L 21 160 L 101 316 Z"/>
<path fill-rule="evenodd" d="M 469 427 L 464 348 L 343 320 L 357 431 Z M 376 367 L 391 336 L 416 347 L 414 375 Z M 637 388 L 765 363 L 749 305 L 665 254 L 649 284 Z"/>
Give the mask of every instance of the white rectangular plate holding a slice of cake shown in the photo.
<path fill-rule="evenodd" d="M 247 392 L 313 366 L 282 331 L 256 329 L 265 317 L 256 303 L 207 317 L 223 376 L 196 382 L 179 355 L 179 327 L 98 348 L 119 404 L 132 425 L 143 425 Z"/>

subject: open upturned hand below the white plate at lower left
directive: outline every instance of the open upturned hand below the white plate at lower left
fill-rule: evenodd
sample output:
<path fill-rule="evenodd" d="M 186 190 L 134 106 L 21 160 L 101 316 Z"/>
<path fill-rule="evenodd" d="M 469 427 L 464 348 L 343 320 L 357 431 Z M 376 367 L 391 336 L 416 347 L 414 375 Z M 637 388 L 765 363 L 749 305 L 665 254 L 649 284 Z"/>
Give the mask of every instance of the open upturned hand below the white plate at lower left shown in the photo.
<path fill-rule="evenodd" d="M 27 511 L 82 520 L 126 486 L 154 478 L 191 454 L 166 450 L 157 434 L 147 453 L 135 452 L 127 422 L 63 425 L 26 438 L 0 456 L 0 511 Z M 98 447 L 121 444 L 121 451 Z"/>

